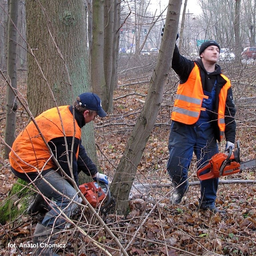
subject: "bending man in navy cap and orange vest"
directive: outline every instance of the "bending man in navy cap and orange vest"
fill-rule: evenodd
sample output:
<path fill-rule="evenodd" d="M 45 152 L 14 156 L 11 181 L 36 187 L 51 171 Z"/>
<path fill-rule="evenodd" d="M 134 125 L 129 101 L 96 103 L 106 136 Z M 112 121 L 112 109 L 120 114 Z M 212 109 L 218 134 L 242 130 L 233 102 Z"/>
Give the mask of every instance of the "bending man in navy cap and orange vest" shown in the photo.
<path fill-rule="evenodd" d="M 79 185 L 80 171 L 108 184 L 107 176 L 97 172 L 81 144 L 81 128 L 97 115 L 106 116 L 100 98 L 93 93 L 82 93 L 74 107 L 55 107 L 40 114 L 35 118 L 37 126 L 31 121 L 13 143 L 9 154 L 12 172 L 32 183 L 49 199 L 48 204 L 51 200 L 50 211 L 42 223 L 37 223 L 33 235 L 34 244 L 38 244 L 36 255 L 57 256 L 51 246 L 39 245 L 53 244 L 65 226 L 66 216 L 69 218 L 77 203 L 81 203 L 72 184 Z"/>

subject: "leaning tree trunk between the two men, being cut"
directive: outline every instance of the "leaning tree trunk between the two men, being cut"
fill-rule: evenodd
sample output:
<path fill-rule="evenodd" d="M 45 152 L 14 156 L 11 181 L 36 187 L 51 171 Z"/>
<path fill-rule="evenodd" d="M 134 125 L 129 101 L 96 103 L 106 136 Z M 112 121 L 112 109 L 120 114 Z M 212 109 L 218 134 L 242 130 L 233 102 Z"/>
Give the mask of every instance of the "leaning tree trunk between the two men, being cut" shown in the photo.
<path fill-rule="evenodd" d="M 128 197 L 137 166 L 161 107 L 164 86 L 171 68 L 181 3 L 181 0 L 169 0 L 164 35 L 148 96 L 111 182 L 111 193 L 117 199 L 116 211 L 121 214 L 127 214 Z"/>

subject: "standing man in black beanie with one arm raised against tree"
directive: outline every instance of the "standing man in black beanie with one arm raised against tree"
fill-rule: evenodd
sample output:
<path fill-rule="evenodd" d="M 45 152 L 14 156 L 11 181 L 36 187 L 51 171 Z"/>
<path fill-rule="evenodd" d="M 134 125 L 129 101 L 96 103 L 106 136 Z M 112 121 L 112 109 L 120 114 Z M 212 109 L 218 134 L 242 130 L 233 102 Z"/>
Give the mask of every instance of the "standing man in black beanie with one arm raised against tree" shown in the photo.
<path fill-rule="evenodd" d="M 200 59 L 191 61 L 180 55 L 175 44 L 172 68 L 179 76 L 180 84 L 171 115 L 167 163 L 175 187 L 173 203 L 180 203 L 187 192 L 193 152 L 199 168 L 218 153 L 217 140 L 220 142 L 224 135 L 226 150 L 234 147 L 236 109 L 230 80 L 216 64 L 219 53 L 220 46 L 216 41 L 206 41 L 199 49 Z M 225 213 L 215 207 L 218 182 L 218 178 L 200 181 L 199 208 Z"/>

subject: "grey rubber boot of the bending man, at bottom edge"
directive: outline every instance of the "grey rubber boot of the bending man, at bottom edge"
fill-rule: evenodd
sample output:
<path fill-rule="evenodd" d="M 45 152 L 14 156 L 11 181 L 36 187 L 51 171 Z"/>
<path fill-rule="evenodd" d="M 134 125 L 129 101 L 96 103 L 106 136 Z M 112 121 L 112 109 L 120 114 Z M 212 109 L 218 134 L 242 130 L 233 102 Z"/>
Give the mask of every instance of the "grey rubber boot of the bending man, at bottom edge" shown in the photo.
<path fill-rule="evenodd" d="M 33 235 L 33 242 L 37 245 L 35 255 L 36 256 L 59 256 L 56 254 L 55 248 L 48 247 L 49 244 L 54 244 L 56 239 L 58 238 L 58 232 L 60 229 L 52 227 L 46 227 L 40 223 L 37 223 L 36 229 Z M 56 234 L 57 233 L 57 234 Z M 52 235 L 51 235 L 52 234 Z M 49 240 L 50 238 L 50 240 Z M 49 242 L 48 242 L 49 240 Z"/>

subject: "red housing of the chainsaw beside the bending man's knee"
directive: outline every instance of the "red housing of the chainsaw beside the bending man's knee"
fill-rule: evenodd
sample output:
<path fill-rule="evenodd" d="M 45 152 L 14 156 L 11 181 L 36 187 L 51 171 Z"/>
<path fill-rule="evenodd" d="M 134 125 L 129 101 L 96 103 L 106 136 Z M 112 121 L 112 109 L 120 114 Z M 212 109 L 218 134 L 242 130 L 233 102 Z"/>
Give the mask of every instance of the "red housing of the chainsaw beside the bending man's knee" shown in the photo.
<path fill-rule="evenodd" d="M 106 197 L 106 194 L 102 191 L 102 188 L 97 182 L 88 182 L 79 186 L 80 191 L 85 196 L 87 201 L 96 208 Z M 85 203 L 85 202 L 84 202 Z"/>

